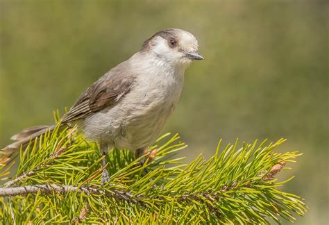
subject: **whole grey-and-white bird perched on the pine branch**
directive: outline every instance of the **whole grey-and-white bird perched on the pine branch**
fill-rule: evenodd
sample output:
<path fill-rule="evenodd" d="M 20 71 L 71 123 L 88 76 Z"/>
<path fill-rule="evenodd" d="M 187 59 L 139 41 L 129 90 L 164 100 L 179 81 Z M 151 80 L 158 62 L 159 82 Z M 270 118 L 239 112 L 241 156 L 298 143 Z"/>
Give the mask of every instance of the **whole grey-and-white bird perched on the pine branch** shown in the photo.
<path fill-rule="evenodd" d="M 118 148 L 143 156 L 178 103 L 185 69 L 194 60 L 203 60 L 198 48 L 192 33 L 179 28 L 158 31 L 144 41 L 140 51 L 90 85 L 62 116 L 60 126 L 78 124 L 87 139 L 99 142 L 103 155 Z M 25 128 L 12 136 L 16 142 L 2 150 L 25 147 L 55 127 Z M 109 180 L 103 168 L 102 184 Z"/>

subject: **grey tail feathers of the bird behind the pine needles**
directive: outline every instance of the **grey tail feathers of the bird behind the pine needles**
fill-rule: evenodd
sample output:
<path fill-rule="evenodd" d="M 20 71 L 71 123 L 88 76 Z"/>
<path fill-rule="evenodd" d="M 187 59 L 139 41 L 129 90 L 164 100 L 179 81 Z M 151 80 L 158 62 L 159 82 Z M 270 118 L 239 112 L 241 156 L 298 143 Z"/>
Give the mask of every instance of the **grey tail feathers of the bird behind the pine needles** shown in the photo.
<path fill-rule="evenodd" d="M 15 140 L 16 142 L 13 142 L 12 144 L 9 144 L 8 146 L 1 149 L 1 151 L 4 151 L 5 153 L 13 153 L 14 151 L 17 151 L 22 146 L 23 148 L 26 147 L 30 141 L 34 142 L 35 138 L 40 137 L 40 135 L 48 132 L 53 131 L 53 129 L 56 128 L 56 125 L 51 126 L 31 126 L 29 128 L 25 128 L 21 133 L 17 133 L 15 135 L 12 135 L 10 138 L 11 140 Z"/>

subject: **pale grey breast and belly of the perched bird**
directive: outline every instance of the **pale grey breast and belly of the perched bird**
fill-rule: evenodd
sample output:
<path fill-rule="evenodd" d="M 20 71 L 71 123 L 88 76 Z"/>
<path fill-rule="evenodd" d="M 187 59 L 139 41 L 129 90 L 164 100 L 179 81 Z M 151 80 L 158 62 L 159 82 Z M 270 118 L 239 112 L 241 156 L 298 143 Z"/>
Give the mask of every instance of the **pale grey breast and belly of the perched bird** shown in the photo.
<path fill-rule="evenodd" d="M 148 147 L 160 135 L 183 89 L 184 74 L 145 73 L 114 106 L 85 121 L 85 134 L 114 147 Z"/>

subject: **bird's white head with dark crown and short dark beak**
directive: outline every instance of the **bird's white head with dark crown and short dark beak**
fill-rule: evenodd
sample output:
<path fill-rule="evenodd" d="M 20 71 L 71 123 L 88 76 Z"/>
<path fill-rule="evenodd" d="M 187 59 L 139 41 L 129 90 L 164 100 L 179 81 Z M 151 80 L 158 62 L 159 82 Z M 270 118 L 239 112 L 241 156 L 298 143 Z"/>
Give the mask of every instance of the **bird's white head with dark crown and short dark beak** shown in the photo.
<path fill-rule="evenodd" d="M 193 60 L 203 60 L 198 53 L 198 41 L 187 31 L 169 28 L 155 33 L 146 40 L 142 51 L 173 65 L 189 65 Z"/>

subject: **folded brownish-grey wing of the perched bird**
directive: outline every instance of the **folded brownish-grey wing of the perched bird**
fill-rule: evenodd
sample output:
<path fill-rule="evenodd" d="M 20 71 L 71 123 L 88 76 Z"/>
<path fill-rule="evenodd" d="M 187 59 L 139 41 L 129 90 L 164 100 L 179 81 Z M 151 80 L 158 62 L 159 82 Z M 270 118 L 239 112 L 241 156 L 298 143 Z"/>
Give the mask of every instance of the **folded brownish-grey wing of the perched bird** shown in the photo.
<path fill-rule="evenodd" d="M 130 91 L 135 76 L 118 65 L 93 83 L 70 110 L 62 117 L 62 122 L 84 119 L 107 106 L 115 104 Z"/>

